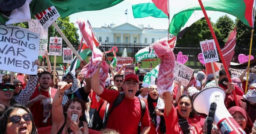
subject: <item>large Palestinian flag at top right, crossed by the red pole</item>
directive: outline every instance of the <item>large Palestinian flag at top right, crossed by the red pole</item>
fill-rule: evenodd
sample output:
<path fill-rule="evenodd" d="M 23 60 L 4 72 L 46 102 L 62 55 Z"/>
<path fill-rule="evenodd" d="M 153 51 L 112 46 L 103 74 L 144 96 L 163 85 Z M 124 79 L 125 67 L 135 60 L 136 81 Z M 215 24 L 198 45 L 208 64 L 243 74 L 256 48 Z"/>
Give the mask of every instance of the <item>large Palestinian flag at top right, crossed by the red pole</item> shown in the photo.
<path fill-rule="evenodd" d="M 245 25 L 253 27 L 253 2 L 254 0 L 205 0 L 203 1 L 203 5 L 205 10 L 231 14 L 240 19 Z M 169 33 L 177 36 L 181 30 L 191 26 L 203 17 L 205 16 L 203 15 L 200 4 L 191 4 L 177 14 L 174 14 L 170 23 Z"/>

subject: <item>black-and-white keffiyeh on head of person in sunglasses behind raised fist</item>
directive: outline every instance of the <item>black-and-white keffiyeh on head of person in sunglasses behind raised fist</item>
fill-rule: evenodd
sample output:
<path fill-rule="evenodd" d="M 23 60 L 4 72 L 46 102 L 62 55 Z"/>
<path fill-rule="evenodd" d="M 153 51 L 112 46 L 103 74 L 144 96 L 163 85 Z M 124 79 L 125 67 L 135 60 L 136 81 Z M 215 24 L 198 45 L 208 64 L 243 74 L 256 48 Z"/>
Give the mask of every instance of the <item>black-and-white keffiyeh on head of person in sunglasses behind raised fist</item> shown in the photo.
<path fill-rule="evenodd" d="M 65 105 L 68 102 L 68 94 L 73 94 L 73 93 L 75 93 L 75 91 L 78 90 L 77 78 L 71 72 L 68 72 L 65 75 L 63 75 L 62 76 L 62 81 L 64 81 L 63 78 L 66 77 L 67 75 L 71 75 L 72 76 L 73 84 L 72 84 L 72 86 L 68 90 L 66 90 L 64 92 L 63 100 L 62 100 L 62 104 L 63 105 Z"/>

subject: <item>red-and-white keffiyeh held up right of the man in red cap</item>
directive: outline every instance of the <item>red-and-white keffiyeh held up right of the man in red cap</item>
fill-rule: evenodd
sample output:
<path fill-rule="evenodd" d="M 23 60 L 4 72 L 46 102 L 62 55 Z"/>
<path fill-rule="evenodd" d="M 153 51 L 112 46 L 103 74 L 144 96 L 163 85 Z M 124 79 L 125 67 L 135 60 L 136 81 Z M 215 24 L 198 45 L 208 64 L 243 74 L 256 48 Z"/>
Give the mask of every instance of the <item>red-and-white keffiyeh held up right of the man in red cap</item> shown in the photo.
<path fill-rule="evenodd" d="M 157 57 L 161 59 L 157 77 L 157 90 L 159 94 L 173 91 L 173 78 L 175 56 L 167 41 L 153 43 L 153 49 Z"/>

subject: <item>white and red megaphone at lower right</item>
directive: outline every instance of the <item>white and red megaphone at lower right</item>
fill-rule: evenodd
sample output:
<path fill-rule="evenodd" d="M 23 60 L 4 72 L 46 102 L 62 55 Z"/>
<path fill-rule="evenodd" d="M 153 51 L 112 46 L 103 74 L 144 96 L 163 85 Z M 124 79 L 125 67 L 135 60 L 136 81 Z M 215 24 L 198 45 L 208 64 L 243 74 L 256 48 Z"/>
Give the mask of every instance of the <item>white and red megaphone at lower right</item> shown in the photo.
<path fill-rule="evenodd" d="M 225 91 L 220 87 L 209 87 L 201 90 L 192 101 L 195 112 L 209 114 L 210 105 L 216 102 L 214 123 L 221 134 L 246 134 L 225 107 Z"/>

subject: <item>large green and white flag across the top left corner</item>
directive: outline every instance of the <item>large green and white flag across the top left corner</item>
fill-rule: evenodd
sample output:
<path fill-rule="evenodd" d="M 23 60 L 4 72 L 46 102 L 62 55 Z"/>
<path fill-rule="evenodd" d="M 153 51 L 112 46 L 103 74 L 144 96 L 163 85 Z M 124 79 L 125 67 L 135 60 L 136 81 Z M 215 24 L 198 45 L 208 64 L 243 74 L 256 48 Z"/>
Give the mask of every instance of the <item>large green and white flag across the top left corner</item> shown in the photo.
<path fill-rule="evenodd" d="M 14 21 L 12 22 L 15 23 L 26 22 L 29 21 L 28 17 L 30 18 L 51 6 L 55 6 L 60 17 L 65 18 L 77 12 L 109 8 L 122 1 L 124 0 L 26 0 L 26 3 L 24 4 L 25 8 L 20 7 L 14 10 L 13 8 L 9 9 L 9 11 L 11 11 L 9 18 L 13 18 Z M 23 14 L 16 14 L 21 12 Z M 27 15 L 29 12 L 30 15 Z M 26 18 L 24 17 L 24 14 L 26 15 Z M 0 14 L 0 23 L 5 24 L 7 21 L 8 19 Z"/>

